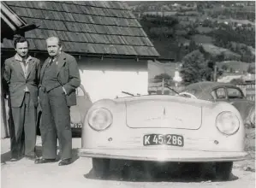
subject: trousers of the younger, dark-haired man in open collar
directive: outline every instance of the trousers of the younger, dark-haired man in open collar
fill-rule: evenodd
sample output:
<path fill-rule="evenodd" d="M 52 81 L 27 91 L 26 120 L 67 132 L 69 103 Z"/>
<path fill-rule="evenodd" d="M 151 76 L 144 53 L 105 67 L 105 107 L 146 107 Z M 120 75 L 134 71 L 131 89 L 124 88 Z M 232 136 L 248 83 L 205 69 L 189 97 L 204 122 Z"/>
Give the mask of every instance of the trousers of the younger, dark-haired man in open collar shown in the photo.
<path fill-rule="evenodd" d="M 25 93 L 21 107 L 12 107 L 11 113 L 11 156 L 35 156 L 37 110 L 29 92 Z"/>

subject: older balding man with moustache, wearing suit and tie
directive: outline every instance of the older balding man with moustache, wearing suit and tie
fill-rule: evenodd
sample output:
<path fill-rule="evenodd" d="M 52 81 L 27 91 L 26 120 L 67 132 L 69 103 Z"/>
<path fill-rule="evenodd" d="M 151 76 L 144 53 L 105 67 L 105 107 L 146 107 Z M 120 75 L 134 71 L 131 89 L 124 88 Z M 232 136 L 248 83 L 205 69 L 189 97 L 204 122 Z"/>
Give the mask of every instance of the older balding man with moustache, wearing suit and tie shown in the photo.
<path fill-rule="evenodd" d="M 80 73 L 74 56 L 62 51 L 59 38 L 47 38 L 46 44 L 50 57 L 42 67 L 39 84 L 43 156 L 35 163 L 56 162 L 58 138 L 62 156 L 59 166 L 63 166 L 70 164 L 72 158 L 69 107 L 76 104 Z"/>

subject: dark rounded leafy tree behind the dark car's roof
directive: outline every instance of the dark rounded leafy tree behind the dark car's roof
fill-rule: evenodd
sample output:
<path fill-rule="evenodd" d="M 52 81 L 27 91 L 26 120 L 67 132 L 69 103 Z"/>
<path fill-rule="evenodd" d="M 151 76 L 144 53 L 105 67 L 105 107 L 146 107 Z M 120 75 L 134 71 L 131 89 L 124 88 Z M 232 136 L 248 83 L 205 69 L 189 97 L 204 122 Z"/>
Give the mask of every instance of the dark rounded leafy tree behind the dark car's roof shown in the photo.
<path fill-rule="evenodd" d="M 182 62 L 181 75 L 186 85 L 206 80 L 208 67 L 204 55 L 199 50 L 185 56 Z"/>

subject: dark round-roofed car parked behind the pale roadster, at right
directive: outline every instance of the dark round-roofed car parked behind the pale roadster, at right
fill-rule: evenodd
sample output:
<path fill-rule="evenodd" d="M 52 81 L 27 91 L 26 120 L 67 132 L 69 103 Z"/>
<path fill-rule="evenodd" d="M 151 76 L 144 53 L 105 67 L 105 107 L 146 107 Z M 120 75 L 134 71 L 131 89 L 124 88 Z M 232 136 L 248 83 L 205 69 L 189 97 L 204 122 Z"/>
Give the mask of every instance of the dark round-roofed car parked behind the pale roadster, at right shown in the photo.
<path fill-rule="evenodd" d="M 231 103 L 240 112 L 244 124 L 255 126 L 255 102 L 247 100 L 241 89 L 235 85 L 208 81 L 198 82 L 188 85 L 180 95 L 212 102 Z"/>

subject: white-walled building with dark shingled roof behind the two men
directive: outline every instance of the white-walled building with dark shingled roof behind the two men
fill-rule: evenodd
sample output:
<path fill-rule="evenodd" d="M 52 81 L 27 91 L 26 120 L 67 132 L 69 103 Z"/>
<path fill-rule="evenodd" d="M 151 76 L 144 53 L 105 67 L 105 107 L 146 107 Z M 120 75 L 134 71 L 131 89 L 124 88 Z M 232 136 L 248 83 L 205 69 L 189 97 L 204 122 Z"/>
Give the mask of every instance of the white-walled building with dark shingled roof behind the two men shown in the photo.
<path fill-rule="evenodd" d="M 95 102 L 122 91 L 147 93 L 147 61 L 158 58 L 152 42 L 123 2 L 5 2 L 27 23 L 39 26 L 25 33 L 33 56 L 45 61 L 45 38 L 58 36 L 63 50 L 80 68 L 81 84 Z M 2 56 L 13 56 L 12 41 L 3 39 Z"/>

